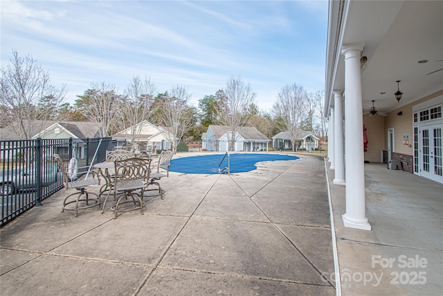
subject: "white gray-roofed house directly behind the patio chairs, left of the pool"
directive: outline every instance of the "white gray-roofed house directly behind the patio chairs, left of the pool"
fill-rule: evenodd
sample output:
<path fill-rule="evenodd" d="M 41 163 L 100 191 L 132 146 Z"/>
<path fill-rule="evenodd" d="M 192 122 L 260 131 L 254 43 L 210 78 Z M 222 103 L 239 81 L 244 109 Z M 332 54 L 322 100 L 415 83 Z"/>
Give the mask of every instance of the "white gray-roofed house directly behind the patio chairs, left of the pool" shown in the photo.
<path fill-rule="evenodd" d="M 134 133 L 134 139 L 133 139 Z M 124 143 L 134 142 L 139 150 L 170 150 L 174 141 L 174 134 L 167 128 L 154 125 L 149 121 L 142 121 L 131 128 L 112 135 L 116 139 L 116 148 L 122 148 Z"/>

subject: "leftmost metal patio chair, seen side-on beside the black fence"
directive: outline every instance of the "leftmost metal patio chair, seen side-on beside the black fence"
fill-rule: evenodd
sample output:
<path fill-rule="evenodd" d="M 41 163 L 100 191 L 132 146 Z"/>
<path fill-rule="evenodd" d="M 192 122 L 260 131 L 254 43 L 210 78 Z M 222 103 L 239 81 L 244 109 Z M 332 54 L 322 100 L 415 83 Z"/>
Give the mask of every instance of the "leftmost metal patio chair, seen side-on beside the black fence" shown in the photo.
<path fill-rule="evenodd" d="M 75 181 L 69 181 L 69 174 L 68 171 L 66 171 L 66 168 L 64 166 L 64 162 L 60 158 L 59 155 L 54 154 L 53 155 L 54 162 L 56 162 L 60 167 L 60 172 L 63 176 L 63 184 L 66 190 L 75 188 L 78 192 L 72 193 L 63 200 L 62 204 L 62 213 L 66 211 L 75 211 L 75 217 L 78 216 L 78 210 L 79 209 L 88 209 L 91 207 L 96 207 L 100 209 L 100 196 L 96 193 L 87 191 L 86 187 L 91 185 L 99 184 L 98 175 L 95 171 L 91 171 L 92 178 L 84 180 L 75 180 Z M 96 198 L 89 198 L 89 195 L 94 195 Z M 72 196 L 75 196 L 75 198 L 71 198 Z M 94 202 L 93 204 L 89 204 L 89 202 Z M 75 207 L 66 207 L 68 204 L 75 203 Z"/>

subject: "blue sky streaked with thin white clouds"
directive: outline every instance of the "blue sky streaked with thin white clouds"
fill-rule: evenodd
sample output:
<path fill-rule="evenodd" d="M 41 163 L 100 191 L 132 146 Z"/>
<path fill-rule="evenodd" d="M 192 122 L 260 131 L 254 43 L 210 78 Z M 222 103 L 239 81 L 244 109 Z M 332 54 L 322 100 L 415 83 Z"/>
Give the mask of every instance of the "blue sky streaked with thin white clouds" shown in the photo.
<path fill-rule="evenodd" d="M 0 62 L 30 55 L 75 102 L 92 83 L 134 76 L 191 105 L 240 77 L 270 112 L 284 85 L 323 91 L 327 0 L 0 1 Z"/>

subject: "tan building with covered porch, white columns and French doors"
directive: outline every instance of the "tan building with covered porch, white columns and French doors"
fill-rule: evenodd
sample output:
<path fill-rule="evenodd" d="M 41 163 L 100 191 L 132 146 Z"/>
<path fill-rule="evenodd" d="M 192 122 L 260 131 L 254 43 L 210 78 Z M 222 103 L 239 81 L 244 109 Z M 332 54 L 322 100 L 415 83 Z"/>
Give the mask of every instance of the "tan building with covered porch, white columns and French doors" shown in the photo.
<path fill-rule="evenodd" d="M 329 1 L 323 112 L 346 227 L 371 229 L 363 159 L 443 183 L 442 11 L 443 1 Z"/>

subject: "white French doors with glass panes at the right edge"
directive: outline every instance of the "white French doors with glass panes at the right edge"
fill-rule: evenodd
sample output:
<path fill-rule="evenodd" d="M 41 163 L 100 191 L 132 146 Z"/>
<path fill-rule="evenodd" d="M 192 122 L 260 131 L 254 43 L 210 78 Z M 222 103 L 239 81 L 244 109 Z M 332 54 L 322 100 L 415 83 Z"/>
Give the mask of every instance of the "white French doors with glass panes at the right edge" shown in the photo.
<path fill-rule="evenodd" d="M 420 175 L 443 183 L 442 125 L 420 127 Z"/>

